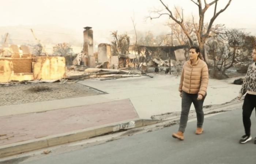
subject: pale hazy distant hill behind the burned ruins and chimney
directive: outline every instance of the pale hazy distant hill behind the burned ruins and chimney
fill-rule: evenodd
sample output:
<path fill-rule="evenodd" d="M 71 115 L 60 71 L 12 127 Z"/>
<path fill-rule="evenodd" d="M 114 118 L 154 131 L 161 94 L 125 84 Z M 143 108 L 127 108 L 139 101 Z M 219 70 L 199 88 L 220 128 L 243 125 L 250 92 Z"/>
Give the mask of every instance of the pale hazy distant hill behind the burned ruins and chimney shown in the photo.
<path fill-rule="evenodd" d="M 79 30 L 68 29 L 55 25 L 34 25 L 34 26 L 2 26 L 0 27 L 0 43 L 3 43 L 5 34 L 8 32 L 9 37 L 7 43 L 9 44 L 37 44 L 37 40 L 34 39 L 30 28 L 34 30 L 35 36 L 41 40 L 42 44 L 55 45 L 57 43 L 69 43 L 72 46 L 83 46 L 83 27 Z M 128 31 L 118 30 L 118 34 L 127 33 L 131 38 L 131 43 L 135 42 L 135 32 L 133 29 Z M 244 28 L 245 32 L 249 32 L 251 35 L 256 36 L 256 28 Z M 95 30 L 94 31 L 94 51 L 97 51 L 97 45 L 100 43 L 110 44 L 113 40 L 111 32 L 115 30 Z M 167 34 L 170 32 L 169 28 L 162 26 L 162 24 L 154 24 L 152 27 L 145 27 L 144 29 L 137 29 L 138 39 L 146 34 L 147 31 L 151 31 L 154 35 Z"/>

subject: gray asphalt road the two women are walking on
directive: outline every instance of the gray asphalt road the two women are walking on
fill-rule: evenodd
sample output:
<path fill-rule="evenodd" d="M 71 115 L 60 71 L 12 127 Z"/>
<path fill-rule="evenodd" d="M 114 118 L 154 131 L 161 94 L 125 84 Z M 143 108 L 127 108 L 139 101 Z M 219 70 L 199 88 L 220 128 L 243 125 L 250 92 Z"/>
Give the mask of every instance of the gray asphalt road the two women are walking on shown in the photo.
<path fill-rule="evenodd" d="M 256 136 L 255 112 L 252 137 Z M 196 121 L 188 123 L 185 140 L 171 137 L 178 125 L 106 142 L 22 164 L 255 164 L 253 141 L 239 144 L 244 135 L 242 110 L 205 118 L 204 133 L 195 134 Z"/>

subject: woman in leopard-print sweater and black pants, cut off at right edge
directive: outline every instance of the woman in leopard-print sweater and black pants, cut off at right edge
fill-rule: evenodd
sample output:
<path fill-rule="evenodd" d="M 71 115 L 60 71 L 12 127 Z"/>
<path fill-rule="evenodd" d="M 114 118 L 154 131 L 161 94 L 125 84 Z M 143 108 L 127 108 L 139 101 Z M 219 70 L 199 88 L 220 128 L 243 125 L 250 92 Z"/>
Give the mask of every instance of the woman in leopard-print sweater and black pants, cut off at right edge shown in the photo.
<path fill-rule="evenodd" d="M 238 99 L 241 99 L 242 95 L 246 93 L 244 98 L 244 104 L 242 106 L 245 135 L 242 136 L 240 139 L 241 144 L 244 144 L 252 139 L 250 117 L 253 109 L 256 108 L 256 47 L 253 48 L 252 59 L 255 62 L 248 67 L 242 88 L 238 95 Z M 254 140 L 254 144 L 256 144 L 256 137 Z"/>

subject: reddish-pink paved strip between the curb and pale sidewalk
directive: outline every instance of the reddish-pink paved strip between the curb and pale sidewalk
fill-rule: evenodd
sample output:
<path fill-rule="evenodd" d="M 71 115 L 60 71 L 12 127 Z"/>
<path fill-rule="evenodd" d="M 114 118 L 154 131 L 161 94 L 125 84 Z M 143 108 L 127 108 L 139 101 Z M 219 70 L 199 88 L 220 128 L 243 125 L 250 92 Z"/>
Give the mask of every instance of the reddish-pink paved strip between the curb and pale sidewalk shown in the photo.
<path fill-rule="evenodd" d="M 138 118 L 129 99 L 0 117 L 0 145 Z"/>

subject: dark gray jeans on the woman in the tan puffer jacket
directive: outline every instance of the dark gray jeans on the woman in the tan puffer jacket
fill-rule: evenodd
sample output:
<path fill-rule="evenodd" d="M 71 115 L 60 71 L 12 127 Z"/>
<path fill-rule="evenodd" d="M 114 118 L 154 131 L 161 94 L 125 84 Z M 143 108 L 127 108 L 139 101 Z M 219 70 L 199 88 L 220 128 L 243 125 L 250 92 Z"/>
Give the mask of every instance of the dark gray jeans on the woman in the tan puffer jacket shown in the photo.
<path fill-rule="evenodd" d="M 206 95 L 201 100 L 197 100 L 197 94 L 189 94 L 182 91 L 180 127 L 178 131 L 185 131 L 192 102 L 196 109 L 197 128 L 202 128 L 204 122 L 203 102 Z"/>

